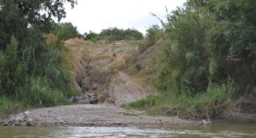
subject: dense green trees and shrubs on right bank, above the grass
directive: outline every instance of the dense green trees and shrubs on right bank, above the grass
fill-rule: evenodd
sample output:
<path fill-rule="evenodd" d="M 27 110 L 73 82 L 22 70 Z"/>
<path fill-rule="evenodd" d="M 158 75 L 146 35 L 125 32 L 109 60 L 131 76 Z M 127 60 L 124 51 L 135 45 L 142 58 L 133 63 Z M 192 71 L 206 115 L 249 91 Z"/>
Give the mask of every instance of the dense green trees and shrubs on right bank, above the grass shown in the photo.
<path fill-rule="evenodd" d="M 255 93 L 255 14 L 251 1 L 188 1 L 167 15 L 158 73 L 162 89 L 205 92 L 228 77 Z"/>

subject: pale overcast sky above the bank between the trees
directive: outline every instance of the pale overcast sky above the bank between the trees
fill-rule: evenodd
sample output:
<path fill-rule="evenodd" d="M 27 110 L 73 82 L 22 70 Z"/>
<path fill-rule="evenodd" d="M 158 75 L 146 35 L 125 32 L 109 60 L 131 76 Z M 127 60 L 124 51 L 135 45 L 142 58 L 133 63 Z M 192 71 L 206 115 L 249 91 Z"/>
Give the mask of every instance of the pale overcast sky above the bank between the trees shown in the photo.
<path fill-rule="evenodd" d="M 186 0 L 78 0 L 78 5 L 70 9 L 65 5 L 67 17 L 61 22 L 71 22 L 78 31 L 101 32 L 109 27 L 135 28 L 145 34 L 150 25 L 159 21 L 150 13 L 165 18 L 166 9 L 174 10 L 182 6 Z"/>

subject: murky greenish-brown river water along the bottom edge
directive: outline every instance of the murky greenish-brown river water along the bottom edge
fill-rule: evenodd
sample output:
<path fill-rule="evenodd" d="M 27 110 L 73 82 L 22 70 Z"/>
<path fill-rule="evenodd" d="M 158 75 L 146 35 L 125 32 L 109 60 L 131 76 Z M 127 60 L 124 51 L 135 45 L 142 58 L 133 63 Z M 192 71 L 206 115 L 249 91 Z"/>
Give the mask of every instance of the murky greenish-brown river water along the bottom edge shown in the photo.
<path fill-rule="evenodd" d="M 256 137 L 256 124 L 211 127 L 0 127 L 0 137 Z"/>

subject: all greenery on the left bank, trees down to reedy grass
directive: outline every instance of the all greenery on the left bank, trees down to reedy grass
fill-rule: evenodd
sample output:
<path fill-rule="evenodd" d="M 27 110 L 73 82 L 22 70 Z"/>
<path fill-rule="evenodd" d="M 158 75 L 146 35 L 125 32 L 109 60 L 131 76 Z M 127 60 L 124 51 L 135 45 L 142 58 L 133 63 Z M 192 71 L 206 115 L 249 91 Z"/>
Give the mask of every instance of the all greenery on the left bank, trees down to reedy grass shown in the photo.
<path fill-rule="evenodd" d="M 67 2 L 72 7 L 76 3 Z M 56 37 L 46 35 L 52 17 L 65 16 L 63 4 L 62 0 L 0 1 L 0 116 L 28 106 L 67 104 L 66 98 L 77 94 L 63 56 L 68 55 L 63 29 Z"/>

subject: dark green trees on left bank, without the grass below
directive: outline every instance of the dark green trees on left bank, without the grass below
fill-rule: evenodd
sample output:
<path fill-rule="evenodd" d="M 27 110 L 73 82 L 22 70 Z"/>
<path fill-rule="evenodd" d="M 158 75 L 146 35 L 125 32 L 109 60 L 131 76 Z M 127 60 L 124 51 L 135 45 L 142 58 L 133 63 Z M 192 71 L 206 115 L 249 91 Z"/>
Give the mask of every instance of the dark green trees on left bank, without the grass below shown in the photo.
<path fill-rule="evenodd" d="M 25 77 L 45 76 L 51 49 L 43 33 L 49 32 L 53 17 L 66 16 L 64 2 L 76 0 L 0 0 L 0 92 L 12 95 Z"/>

